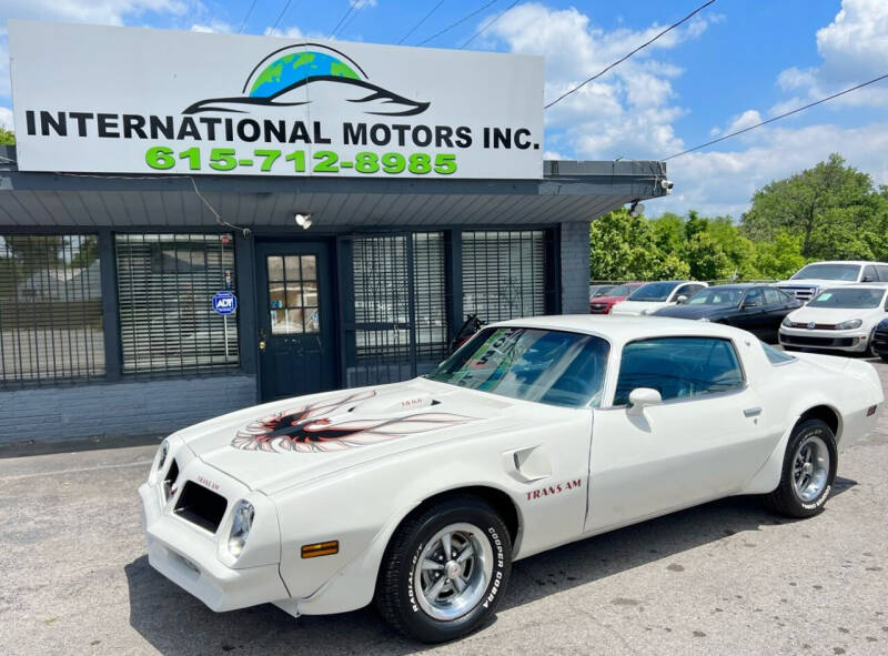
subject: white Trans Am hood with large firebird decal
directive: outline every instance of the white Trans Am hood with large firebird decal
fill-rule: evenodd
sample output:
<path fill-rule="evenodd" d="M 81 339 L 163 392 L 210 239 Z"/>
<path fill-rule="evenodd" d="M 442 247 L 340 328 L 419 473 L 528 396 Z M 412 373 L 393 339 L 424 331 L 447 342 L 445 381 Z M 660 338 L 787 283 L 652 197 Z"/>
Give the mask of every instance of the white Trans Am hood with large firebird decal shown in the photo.
<path fill-rule="evenodd" d="M 442 440 L 527 425 L 541 412 L 559 411 L 416 379 L 276 401 L 176 436 L 208 465 L 272 494 Z"/>

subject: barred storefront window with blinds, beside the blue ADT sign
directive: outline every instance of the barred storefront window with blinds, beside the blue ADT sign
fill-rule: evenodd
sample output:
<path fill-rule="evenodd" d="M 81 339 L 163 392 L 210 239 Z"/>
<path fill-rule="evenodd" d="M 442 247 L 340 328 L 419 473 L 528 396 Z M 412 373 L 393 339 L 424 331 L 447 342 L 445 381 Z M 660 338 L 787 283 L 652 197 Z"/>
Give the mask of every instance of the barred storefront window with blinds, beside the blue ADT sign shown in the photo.
<path fill-rule="evenodd" d="M 216 292 L 236 293 L 230 234 L 118 234 L 123 372 L 164 374 L 238 364 L 238 317 Z"/>

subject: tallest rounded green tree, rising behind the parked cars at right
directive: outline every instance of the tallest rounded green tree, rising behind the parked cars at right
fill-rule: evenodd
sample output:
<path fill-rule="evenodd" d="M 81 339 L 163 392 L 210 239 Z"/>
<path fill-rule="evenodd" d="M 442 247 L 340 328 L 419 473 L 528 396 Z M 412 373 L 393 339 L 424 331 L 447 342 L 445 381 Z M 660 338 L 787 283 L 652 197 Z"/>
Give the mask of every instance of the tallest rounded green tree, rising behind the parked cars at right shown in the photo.
<path fill-rule="evenodd" d="M 743 232 L 757 242 L 771 241 L 780 231 L 800 235 L 805 258 L 871 256 L 855 235 L 878 214 L 878 196 L 868 174 L 834 153 L 757 191 L 743 215 Z"/>

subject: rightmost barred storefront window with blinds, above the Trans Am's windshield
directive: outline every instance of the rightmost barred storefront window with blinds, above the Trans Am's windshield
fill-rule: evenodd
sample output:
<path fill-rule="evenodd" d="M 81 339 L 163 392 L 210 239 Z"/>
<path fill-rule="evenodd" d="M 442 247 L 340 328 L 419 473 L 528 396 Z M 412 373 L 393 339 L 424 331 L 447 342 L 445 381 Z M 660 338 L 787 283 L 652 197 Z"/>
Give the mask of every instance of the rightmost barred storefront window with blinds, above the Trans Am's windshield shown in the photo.
<path fill-rule="evenodd" d="M 463 232 L 463 311 L 485 322 L 546 312 L 545 232 Z"/>

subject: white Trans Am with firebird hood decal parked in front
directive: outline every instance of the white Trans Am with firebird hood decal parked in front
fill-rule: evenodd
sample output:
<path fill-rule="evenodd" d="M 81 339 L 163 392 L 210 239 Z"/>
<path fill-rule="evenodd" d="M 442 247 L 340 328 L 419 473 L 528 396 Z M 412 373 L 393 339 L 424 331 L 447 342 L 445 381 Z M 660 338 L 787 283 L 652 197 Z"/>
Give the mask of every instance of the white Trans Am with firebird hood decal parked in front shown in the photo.
<path fill-rule="evenodd" d="M 213 610 L 375 602 L 448 640 L 495 612 L 518 558 L 735 494 L 815 515 L 882 402 L 868 363 L 726 325 L 509 321 L 425 377 L 169 436 L 139 488 L 149 561 Z"/>

